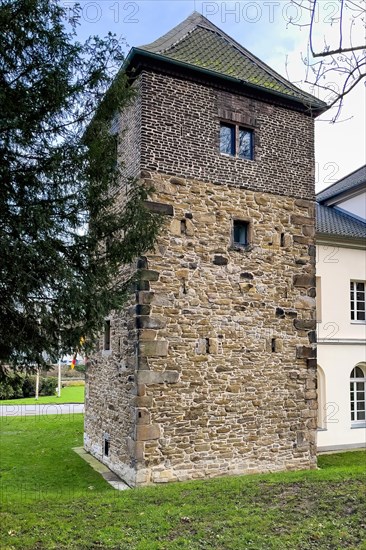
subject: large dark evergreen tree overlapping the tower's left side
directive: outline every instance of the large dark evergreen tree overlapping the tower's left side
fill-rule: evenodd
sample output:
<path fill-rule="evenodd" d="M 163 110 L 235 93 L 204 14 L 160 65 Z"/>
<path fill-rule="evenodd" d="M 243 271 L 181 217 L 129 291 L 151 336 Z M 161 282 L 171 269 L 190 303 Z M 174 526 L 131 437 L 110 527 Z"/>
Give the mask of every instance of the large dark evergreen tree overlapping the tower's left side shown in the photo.
<path fill-rule="evenodd" d="M 138 182 L 117 207 L 111 120 L 132 92 L 122 45 L 78 42 L 79 15 L 0 1 L 0 365 L 54 361 L 81 338 L 91 347 L 123 303 L 119 266 L 151 249 L 161 225 Z"/>

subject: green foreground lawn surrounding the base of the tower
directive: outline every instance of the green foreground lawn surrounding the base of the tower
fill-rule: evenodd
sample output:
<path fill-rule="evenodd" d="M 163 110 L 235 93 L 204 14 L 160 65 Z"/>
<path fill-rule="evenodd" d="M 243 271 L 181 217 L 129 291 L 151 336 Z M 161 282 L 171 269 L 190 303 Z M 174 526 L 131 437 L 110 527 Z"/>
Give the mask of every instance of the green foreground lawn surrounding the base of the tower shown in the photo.
<path fill-rule="evenodd" d="M 366 549 L 366 453 L 320 470 L 117 492 L 71 448 L 82 415 L 1 420 L 1 548 Z"/>

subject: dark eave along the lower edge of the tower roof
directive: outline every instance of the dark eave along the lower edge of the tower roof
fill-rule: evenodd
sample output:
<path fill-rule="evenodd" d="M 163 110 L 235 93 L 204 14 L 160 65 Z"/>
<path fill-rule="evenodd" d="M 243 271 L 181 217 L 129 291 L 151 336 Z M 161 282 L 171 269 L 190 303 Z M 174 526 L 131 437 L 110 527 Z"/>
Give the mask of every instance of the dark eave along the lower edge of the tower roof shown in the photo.
<path fill-rule="evenodd" d="M 270 96 L 277 96 L 280 99 L 283 99 L 283 100 L 288 101 L 290 103 L 294 103 L 298 107 L 301 107 L 302 110 L 304 110 L 304 111 L 308 111 L 308 112 L 310 111 L 315 116 L 319 116 L 319 115 L 321 115 L 322 113 L 324 113 L 325 111 L 327 111 L 329 109 L 328 105 L 326 103 L 324 103 L 323 101 L 318 101 L 317 103 L 307 104 L 305 101 L 301 101 L 300 99 L 297 99 L 297 98 L 292 97 L 292 96 L 287 95 L 287 94 L 283 94 L 283 93 L 278 92 L 276 90 L 271 90 L 270 88 L 265 88 L 263 86 L 257 86 L 256 84 L 251 84 L 249 82 L 245 82 L 245 81 L 240 80 L 238 78 L 223 75 L 223 74 L 217 73 L 215 71 L 212 71 L 210 69 L 205 69 L 203 67 L 198 67 L 198 66 L 192 65 L 190 63 L 185 63 L 184 61 L 178 61 L 176 59 L 171 59 L 171 58 L 163 56 L 161 54 L 148 52 L 148 51 L 142 50 L 140 48 L 132 48 L 130 50 L 129 54 L 127 55 L 127 57 L 125 59 L 125 62 L 123 64 L 123 70 L 126 71 L 127 74 L 131 70 L 131 68 L 133 66 L 133 63 L 134 63 L 134 61 L 136 61 L 136 58 L 138 56 L 141 56 L 141 57 L 144 57 L 144 58 L 147 58 L 147 59 L 152 59 L 152 60 L 155 60 L 155 61 L 158 61 L 158 62 L 159 61 L 164 62 L 164 63 L 167 63 L 169 65 L 180 67 L 182 69 L 183 68 L 184 69 L 189 69 L 193 72 L 201 73 L 201 74 L 204 74 L 204 75 L 209 76 L 211 78 L 215 78 L 217 80 L 224 80 L 226 82 L 231 82 L 233 84 L 241 84 L 245 88 L 259 91 L 262 94 L 264 93 L 264 94 L 268 94 Z"/>

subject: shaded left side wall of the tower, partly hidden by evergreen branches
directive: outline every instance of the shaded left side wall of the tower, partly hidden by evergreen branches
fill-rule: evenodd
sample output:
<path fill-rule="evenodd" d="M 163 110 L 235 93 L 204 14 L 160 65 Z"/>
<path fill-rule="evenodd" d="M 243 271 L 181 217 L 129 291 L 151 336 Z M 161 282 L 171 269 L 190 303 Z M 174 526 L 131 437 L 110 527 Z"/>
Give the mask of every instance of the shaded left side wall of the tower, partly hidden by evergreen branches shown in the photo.
<path fill-rule="evenodd" d="M 118 153 L 124 163 L 118 206 L 122 209 L 126 183 L 140 174 L 141 95 L 140 81 L 134 83 L 134 100 L 122 115 L 114 120 L 118 130 Z M 136 266 L 121 270 L 122 280 L 135 273 Z M 111 350 L 103 350 L 103 335 L 99 351 L 91 358 L 86 375 L 84 447 L 105 462 L 118 475 L 134 485 L 136 426 L 135 377 L 137 365 L 137 329 L 135 296 L 131 295 L 124 309 L 111 313 Z M 104 439 L 110 442 L 108 456 L 104 454 Z"/>

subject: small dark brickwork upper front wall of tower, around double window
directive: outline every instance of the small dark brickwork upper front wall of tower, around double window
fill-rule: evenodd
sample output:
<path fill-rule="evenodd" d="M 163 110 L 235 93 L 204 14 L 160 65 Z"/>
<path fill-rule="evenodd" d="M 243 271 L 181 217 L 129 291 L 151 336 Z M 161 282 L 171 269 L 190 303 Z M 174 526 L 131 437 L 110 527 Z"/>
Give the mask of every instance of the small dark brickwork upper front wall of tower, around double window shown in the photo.
<path fill-rule="evenodd" d="M 177 77 L 141 80 L 142 169 L 314 198 L 311 117 Z M 254 161 L 220 155 L 220 120 L 254 130 Z"/>

